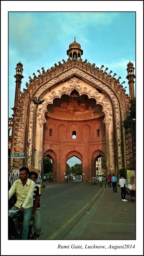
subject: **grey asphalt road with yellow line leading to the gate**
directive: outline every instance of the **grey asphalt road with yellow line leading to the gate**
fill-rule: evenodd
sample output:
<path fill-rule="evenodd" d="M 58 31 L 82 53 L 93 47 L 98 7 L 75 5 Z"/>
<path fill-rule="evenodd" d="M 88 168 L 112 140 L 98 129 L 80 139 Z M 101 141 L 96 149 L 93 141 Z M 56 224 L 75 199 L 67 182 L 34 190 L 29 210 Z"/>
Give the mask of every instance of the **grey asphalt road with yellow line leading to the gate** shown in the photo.
<path fill-rule="evenodd" d="M 102 190 L 99 184 L 81 180 L 65 183 L 45 182 L 42 189 L 41 232 L 39 239 L 64 239 L 82 216 L 88 212 Z M 103 184 L 104 186 L 104 184 Z"/>

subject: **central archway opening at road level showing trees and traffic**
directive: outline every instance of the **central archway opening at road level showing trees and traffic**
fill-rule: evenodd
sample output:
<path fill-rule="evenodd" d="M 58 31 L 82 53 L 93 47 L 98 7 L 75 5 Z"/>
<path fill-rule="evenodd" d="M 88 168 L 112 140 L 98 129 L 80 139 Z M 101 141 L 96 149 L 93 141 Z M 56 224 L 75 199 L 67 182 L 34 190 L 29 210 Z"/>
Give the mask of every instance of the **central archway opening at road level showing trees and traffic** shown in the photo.
<path fill-rule="evenodd" d="M 81 182 L 82 181 L 82 162 L 76 156 L 70 157 L 66 162 L 66 175 L 69 181 Z"/>

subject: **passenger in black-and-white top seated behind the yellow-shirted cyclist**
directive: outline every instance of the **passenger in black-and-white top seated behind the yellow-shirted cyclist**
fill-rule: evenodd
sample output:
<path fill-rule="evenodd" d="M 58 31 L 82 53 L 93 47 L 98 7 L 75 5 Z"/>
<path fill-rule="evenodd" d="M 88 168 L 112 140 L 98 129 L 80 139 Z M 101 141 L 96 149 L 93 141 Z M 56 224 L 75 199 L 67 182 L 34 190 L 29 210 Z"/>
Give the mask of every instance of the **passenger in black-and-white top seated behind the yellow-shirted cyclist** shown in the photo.
<path fill-rule="evenodd" d="M 36 183 L 38 178 L 37 172 L 30 172 L 29 179 L 33 180 Z M 33 227 L 35 229 L 34 239 L 37 239 L 40 235 L 41 224 L 40 224 L 40 196 L 41 196 L 41 185 L 36 183 L 36 187 L 34 189 L 33 194 L 33 211 L 31 215 L 31 219 L 33 220 Z"/>

